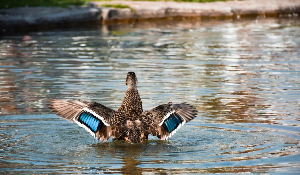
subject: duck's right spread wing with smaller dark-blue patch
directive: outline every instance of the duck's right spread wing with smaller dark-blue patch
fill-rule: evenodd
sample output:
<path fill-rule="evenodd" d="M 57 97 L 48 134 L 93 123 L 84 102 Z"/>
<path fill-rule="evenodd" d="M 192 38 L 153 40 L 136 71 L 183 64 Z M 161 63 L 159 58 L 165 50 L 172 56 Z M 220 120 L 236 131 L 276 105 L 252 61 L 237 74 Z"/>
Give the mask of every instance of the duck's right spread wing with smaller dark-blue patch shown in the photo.
<path fill-rule="evenodd" d="M 158 126 L 160 140 L 168 140 L 176 131 L 196 117 L 196 108 L 190 104 L 162 104 L 148 111 Z"/>

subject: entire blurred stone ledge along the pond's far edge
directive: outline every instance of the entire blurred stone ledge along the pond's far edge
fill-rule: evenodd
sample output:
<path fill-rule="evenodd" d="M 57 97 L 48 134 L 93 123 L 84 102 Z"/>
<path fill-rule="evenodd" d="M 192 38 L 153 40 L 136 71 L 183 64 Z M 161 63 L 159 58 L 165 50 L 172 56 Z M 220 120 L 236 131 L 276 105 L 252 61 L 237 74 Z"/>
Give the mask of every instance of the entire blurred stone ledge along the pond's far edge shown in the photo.
<path fill-rule="evenodd" d="M 130 8 L 104 8 L 103 4 L 122 4 Z M 244 0 L 226 2 L 95 1 L 87 7 L 11 8 L 0 10 L 0 32 L 18 27 L 64 24 L 76 26 L 158 19 L 224 19 L 257 16 L 298 16 L 300 0 Z M 95 23 L 94 23 L 95 24 Z M 53 27 L 52 27 L 53 28 Z M 30 30 L 30 29 L 29 29 Z M 13 30 L 10 30 L 13 31 Z"/>

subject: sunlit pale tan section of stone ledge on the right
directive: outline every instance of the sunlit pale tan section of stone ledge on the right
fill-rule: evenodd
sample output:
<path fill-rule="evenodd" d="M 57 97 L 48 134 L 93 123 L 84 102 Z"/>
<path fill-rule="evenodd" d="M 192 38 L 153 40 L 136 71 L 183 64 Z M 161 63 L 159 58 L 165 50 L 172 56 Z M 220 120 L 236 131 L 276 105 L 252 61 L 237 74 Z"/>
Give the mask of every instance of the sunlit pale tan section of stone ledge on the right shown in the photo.
<path fill-rule="evenodd" d="M 176 17 L 196 18 L 232 18 L 237 16 L 253 16 L 268 14 L 292 14 L 300 13 L 300 0 L 244 0 L 226 2 L 148 2 L 148 1 L 95 1 L 93 6 L 101 8 L 103 4 L 128 5 L 131 9 L 103 10 L 103 23 L 116 21 L 158 19 Z"/>

